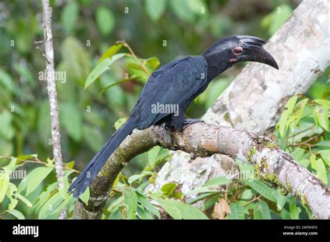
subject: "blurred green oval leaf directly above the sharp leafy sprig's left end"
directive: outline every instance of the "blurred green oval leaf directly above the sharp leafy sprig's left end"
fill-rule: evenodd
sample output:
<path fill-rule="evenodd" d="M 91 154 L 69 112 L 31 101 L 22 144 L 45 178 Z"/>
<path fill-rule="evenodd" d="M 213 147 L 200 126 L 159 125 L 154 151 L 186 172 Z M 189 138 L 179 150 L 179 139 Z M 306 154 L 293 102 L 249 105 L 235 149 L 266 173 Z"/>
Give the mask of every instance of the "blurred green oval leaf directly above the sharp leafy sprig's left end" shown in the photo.
<path fill-rule="evenodd" d="M 96 23 L 102 35 L 109 35 L 115 27 L 116 19 L 109 8 L 99 7 L 96 10 Z"/>

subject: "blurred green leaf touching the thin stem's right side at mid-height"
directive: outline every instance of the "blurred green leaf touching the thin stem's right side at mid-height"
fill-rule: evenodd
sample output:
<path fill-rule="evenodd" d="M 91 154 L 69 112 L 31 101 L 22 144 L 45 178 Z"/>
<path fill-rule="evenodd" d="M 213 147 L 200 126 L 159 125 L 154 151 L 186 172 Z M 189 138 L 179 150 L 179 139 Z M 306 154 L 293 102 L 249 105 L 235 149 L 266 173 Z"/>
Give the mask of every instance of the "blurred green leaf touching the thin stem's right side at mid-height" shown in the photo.
<path fill-rule="evenodd" d="M 79 142 L 82 138 L 82 116 L 77 104 L 66 102 L 59 105 L 60 121 L 68 135 Z"/>

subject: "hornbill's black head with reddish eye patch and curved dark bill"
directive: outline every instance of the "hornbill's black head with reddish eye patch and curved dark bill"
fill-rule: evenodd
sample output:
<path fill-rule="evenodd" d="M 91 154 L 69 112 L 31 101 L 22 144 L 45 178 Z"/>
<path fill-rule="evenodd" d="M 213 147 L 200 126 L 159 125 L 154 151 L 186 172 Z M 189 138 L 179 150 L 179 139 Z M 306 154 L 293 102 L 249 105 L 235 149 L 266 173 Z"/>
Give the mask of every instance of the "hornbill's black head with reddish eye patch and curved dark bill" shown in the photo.
<path fill-rule="evenodd" d="M 254 36 L 235 35 L 214 42 L 202 55 L 209 65 L 223 69 L 221 72 L 241 61 L 264 63 L 278 69 L 273 56 L 262 47 L 264 44 L 265 40 Z"/>

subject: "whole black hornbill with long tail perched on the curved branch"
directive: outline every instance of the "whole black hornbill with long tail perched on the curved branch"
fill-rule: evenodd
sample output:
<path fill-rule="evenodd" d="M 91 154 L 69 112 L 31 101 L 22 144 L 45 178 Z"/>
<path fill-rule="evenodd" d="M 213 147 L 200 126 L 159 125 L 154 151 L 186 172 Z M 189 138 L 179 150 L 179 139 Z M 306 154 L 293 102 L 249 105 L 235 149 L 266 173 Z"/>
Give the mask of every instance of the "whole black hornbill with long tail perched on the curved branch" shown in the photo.
<path fill-rule="evenodd" d="M 166 127 L 182 130 L 185 124 L 200 122 L 184 120 L 184 111 L 200 95 L 214 77 L 239 61 L 265 63 L 278 69 L 274 58 L 262 48 L 265 41 L 249 35 L 236 35 L 214 42 L 201 56 L 186 56 L 171 61 L 152 72 L 127 122 L 102 147 L 69 192 L 74 197 L 83 193 L 101 170 L 109 156 L 132 133 L 133 129 L 147 129 L 153 124 L 166 123 Z M 155 104 L 178 106 L 178 113 L 153 112 Z M 173 110 L 173 109 L 172 109 Z"/>

